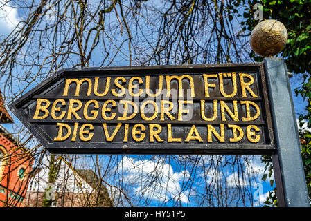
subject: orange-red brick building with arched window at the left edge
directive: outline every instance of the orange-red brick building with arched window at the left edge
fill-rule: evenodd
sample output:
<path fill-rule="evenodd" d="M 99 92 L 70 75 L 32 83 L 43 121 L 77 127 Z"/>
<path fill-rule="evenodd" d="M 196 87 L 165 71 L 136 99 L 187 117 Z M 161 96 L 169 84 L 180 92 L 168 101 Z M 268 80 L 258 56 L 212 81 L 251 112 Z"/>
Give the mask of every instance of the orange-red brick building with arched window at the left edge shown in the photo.
<path fill-rule="evenodd" d="M 33 157 L 19 145 L 4 123 L 12 123 L 0 91 L 0 207 L 25 206 L 28 175 Z"/>

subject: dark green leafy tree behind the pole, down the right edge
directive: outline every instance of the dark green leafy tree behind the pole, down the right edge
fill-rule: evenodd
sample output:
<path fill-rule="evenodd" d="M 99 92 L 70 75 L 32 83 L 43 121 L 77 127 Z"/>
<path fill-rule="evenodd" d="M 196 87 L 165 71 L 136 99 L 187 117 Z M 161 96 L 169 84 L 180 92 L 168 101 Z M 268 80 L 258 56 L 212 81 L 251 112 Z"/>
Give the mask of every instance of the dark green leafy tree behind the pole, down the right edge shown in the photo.
<path fill-rule="evenodd" d="M 258 1 L 247 1 L 250 6 L 254 6 Z M 311 1 L 310 0 L 287 0 L 272 1 L 262 0 L 263 12 L 265 19 L 277 19 L 287 27 L 288 40 L 287 46 L 281 52 L 281 56 L 285 58 L 288 70 L 293 73 L 303 73 L 303 84 L 295 89 L 296 95 L 300 94 L 308 100 L 308 111 L 305 115 L 299 116 L 299 124 L 302 126 L 304 122 L 308 122 L 308 128 L 311 127 Z M 253 19 L 253 7 L 244 12 L 245 28 L 251 31 L 256 26 Z M 250 57 L 256 61 L 262 58 L 250 53 Z M 311 134 L 310 131 L 301 131 L 301 156 L 305 169 L 305 178 L 307 181 L 309 197 L 311 198 Z M 271 156 L 264 155 L 262 162 L 266 164 L 265 168 L 269 173 L 263 176 L 263 180 L 272 176 L 272 160 Z M 273 183 L 272 183 L 273 184 Z M 270 193 L 267 198 L 267 204 L 277 206 L 276 190 Z"/>

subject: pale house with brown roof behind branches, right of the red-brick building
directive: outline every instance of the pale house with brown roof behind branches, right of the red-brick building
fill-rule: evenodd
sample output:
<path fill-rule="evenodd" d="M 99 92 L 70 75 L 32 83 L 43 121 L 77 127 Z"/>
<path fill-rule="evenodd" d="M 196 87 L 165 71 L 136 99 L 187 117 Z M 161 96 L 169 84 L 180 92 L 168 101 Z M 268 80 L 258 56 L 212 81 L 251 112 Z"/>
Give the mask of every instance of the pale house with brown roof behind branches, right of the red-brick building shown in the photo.
<path fill-rule="evenodd" d="M 73 169 L 61 158 L 55 160 L 60 163 L 55 182 L 48 182 L 50 159 L 45 157 L 30 177 L 25 200 L 28 206 L 44 206 L 44 200 L 51 200 L 49 206 L 53 207 L 113 206 L 107 188 L 94 171 Z"/>

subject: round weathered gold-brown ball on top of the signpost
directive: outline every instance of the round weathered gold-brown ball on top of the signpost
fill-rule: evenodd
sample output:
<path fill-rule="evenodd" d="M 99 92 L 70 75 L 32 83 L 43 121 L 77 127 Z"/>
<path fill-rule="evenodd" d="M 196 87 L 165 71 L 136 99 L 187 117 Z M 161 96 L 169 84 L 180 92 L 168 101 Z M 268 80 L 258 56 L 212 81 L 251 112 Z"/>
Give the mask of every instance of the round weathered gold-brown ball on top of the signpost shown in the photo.
<path fill-rule="evenodd" d="M 251 48 L 262 57 L 272 57 L 281 52 L 287 42 L 287 30 L 283 23 L 265 20 L 251 32 Z"/>

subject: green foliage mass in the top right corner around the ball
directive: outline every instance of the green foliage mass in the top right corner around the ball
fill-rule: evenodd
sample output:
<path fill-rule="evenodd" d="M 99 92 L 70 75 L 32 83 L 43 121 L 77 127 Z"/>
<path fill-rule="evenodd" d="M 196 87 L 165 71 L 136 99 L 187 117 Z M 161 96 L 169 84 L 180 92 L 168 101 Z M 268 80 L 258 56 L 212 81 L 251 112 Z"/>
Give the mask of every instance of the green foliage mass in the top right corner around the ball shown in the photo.
<path fill-rule="evenodd" d="M 243 13 L 246 18 L 245 27 L 249 32 L 258 21 L 253 18 L 253 6 L 263 5 L 264 19 L 276 19 L 287 28 L 287 45 L 281 52 L 285 58 L 288 70 L 294 73 L 305 73 L 311 70 L 311 0 L 248 0 L 249 10 Z M 262 58 L 251 52 L 250 56 L 256 61 Z"/>

